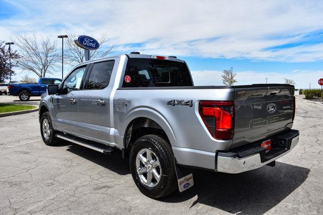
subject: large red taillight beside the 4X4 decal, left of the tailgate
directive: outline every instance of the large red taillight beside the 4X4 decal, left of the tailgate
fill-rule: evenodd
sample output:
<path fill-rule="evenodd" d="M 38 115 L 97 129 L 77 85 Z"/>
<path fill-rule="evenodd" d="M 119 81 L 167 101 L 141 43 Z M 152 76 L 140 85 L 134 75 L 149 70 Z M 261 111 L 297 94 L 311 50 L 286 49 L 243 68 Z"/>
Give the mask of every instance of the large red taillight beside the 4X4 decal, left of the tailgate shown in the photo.
<path fill-rule="evenodd" d="M 234 101 L 200 101 L 199 114 L 214 138 L 219 140 L 233 138 Z"/>

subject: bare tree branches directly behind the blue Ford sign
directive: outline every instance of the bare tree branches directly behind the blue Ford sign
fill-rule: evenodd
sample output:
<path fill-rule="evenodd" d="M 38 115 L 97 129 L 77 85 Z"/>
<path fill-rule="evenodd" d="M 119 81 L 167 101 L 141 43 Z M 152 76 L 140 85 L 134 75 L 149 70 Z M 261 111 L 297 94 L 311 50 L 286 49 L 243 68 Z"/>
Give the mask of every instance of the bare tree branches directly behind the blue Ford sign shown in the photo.
<path fill-rule="evenodd" d="M 69 36 L 64 40 L 65 42 L 65 50 L 64 50 L 64 60 L 66 64 L 69 64 L 71 66 L 75 66 L 77 64 L 83 63 L 84 61 L 84 49 L 77 46 L 74 42 L 74 38 L 76 37 L 76 34 L 74 32 L 66 34 Z M 109 41 L 109 36 L 107 36 L 106 33 L 102 33 L 100 35 L 100 38 L 97 39 L 98 43 L 100 44 L 100 47 L 95 50 L 90 51 L 90 58 L 91 59 L 97 59 L 97 58 L 103 58 L 107 56 L 109 53 L 112 52 L 114 46 L 106 47 L 104 44 L 106 44 Z"/>

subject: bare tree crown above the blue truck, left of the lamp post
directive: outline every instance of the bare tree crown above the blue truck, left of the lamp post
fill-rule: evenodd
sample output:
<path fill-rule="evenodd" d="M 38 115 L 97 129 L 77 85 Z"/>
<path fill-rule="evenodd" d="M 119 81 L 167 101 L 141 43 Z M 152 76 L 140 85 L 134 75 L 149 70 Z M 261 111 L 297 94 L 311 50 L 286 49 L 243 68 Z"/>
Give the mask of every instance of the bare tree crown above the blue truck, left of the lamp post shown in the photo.
<path fill-rule="evenodd" d="M 30 36 L 17 34 L 15 44 L 21 51 L 18 67 L 22 70 L 45 77 L 46 73 L 52 74 L 58 68 L 57 43 L 51 42 L 50 37 L 37 38 L 35 32 Z"/>

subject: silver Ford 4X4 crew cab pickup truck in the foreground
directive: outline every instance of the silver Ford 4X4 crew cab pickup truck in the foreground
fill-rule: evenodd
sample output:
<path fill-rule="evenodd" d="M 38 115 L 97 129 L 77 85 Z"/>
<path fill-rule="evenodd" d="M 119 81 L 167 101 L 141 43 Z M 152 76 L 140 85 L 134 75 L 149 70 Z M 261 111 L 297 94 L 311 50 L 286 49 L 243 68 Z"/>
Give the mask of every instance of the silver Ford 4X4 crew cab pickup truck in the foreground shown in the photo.
<path fill-rule="evenodd" d="M 64 139 L 104 154 L 122 150 L 151 198 L 191 187 L 183 167 L 274 166 L 298 143 L 294 116 L 292 85 L 194 86 L 184 61 L 138 52 L 78 65 L 39 104 L 46 145 Z"/>

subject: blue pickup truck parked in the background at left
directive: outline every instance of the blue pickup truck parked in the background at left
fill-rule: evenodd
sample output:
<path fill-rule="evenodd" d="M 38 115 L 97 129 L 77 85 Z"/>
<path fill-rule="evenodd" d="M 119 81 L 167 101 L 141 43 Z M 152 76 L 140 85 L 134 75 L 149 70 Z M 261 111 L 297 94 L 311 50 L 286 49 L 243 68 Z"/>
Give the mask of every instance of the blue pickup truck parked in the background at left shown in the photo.
<path fill-rule="evenodd" d="M 19 83 L 8 84 L 10 95 L 19 96 L 22 101 L 28 101 L 30 96 L 40 96 L 46 92 L 48 84 L 59 85 L 62 82 L 60 78 L 39 78 L 38 83 Z"/>

